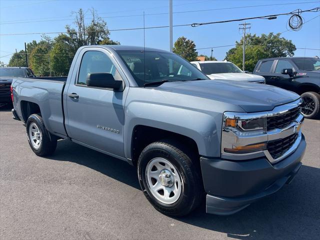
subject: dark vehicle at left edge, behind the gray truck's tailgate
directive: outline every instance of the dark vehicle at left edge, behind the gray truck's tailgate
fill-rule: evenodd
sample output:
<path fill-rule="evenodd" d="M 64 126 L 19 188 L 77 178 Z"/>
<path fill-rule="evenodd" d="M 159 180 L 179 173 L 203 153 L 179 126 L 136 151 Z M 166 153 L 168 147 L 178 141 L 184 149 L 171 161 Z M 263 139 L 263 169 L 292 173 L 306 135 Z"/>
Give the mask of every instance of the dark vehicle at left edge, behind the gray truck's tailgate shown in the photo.
<path fill-rule="evenodd" d="M 34 76 L 29 67 L 0 67 L 0 102 L 11 102 L 10 86 L 14 77 L 29 76 Z"/>

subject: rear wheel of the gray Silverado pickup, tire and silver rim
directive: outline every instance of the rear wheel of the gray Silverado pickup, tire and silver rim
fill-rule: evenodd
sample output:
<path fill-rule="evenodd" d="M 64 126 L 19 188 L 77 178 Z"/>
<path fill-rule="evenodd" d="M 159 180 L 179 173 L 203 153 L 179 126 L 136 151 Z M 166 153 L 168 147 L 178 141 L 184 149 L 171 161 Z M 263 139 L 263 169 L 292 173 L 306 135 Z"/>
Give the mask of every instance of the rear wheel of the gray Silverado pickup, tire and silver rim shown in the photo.
<path fill-rule="evenodd" d="M 26 134 L 32 151 L 38 156 L 50 155 L 56 148 L 57 138 L 45 129 L 42 117 L 32 114 L 26 121 Z"/>

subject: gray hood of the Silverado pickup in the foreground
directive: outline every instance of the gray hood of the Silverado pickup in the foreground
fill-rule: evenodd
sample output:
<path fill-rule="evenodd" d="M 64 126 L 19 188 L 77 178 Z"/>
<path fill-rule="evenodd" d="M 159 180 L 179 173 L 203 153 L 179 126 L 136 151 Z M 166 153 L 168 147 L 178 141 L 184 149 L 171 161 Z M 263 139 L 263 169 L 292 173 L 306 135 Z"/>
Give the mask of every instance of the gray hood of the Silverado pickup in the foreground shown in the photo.
<path fill-rule="evenodd" d="M 228 80 L 165 82 L 156 89 L 236 104 L 246 112 L 269 111 L 300 97 L 271 85 Z"/>

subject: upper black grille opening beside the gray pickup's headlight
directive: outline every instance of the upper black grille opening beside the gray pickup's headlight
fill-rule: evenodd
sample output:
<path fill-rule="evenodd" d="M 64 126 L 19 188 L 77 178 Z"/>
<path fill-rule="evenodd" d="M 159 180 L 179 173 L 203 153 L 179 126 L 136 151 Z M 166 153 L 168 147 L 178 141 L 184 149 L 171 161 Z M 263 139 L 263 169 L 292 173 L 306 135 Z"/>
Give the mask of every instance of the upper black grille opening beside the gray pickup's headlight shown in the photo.
<path fill-rule="evenodd" d="M 300 114 L 300 107 L 295 107 L 286 113 L 277 116 L 270 116 L 267 118 L 267 130 L 275 128 L 284 128 L 293 122 Z"/>

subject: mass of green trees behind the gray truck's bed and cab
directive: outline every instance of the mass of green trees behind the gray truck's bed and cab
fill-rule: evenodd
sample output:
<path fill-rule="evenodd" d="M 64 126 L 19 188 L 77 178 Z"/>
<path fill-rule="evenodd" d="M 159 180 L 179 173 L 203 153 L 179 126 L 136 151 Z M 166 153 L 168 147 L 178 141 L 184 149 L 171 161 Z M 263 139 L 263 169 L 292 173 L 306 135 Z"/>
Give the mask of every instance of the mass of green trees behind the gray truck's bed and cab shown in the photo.
<path fill-rule="evenodd" d="M 26 44 L 29 66 L 36 75 L 66 75 L 76 50 L 83 45 L 120 44 L 111 40 L 106 22 L 92 8 L 84 12 L 80 8 L 72 12 L 73 24 L 65 26 L 67 33 L 54 39 L 41 35 L 39 42 L 32 40 Z M 85 22 L 90 15 L 89 23 Z M 23 50 L 19 53 L 24 53 Z M 24 54 L 13 54 L 8 66 L 25 66 Z"/>

